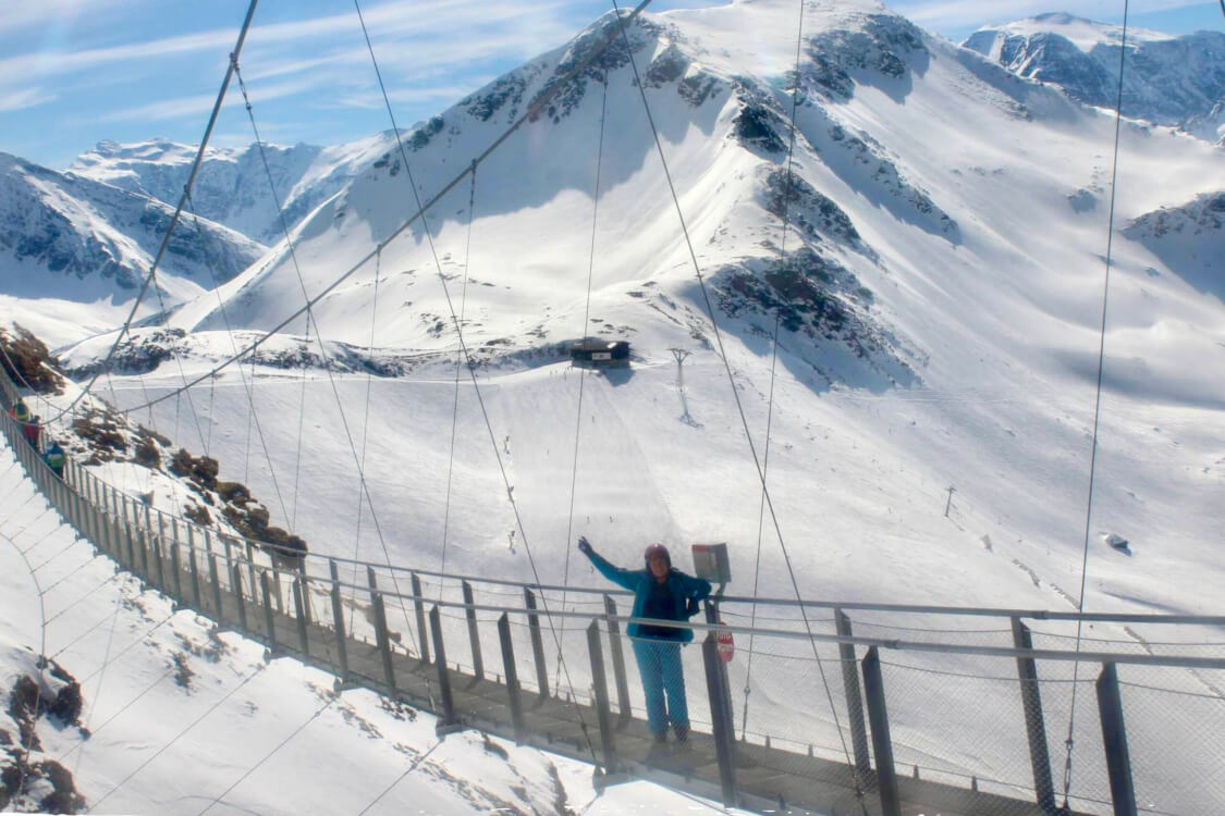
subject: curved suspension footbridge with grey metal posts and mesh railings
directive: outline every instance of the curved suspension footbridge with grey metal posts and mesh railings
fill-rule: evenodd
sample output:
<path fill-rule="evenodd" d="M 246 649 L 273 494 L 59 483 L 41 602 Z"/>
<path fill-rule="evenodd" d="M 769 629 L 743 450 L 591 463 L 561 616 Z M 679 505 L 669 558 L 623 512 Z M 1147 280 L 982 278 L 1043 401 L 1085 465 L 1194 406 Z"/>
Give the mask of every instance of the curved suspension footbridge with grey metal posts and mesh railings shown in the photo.
<path fill-rule="evenodd" d="M 480 727 L 593 761 L 605 782 L 632 771 L 728 804 L 894 816 L 904 803 L 986 815 L 1063 803 L 1074 615 L 811 603 L 828 610 L 812 617 L 815 658 L 795 604 L 760 604 L 750 626 L 752 599 L 725 598 L 725 626 L 685 624 L 691 735 L 659 746 L 638 663 L 655 657 L 624 634 L 637 623 L 625 593 L 270 555 L 80 462 L 58 478 L 15 421 L 0 426 L 62 517 L 147 586 L 341 684 L 434 711 L 443 730 Z M 1213 640 L 1225 617 L 1090 618 L 1128 626 L 1083 642 L 1072 810 L 1225 812 L 1225 645 Z M 723 630 L 739 646 L 730 663 Z"/>

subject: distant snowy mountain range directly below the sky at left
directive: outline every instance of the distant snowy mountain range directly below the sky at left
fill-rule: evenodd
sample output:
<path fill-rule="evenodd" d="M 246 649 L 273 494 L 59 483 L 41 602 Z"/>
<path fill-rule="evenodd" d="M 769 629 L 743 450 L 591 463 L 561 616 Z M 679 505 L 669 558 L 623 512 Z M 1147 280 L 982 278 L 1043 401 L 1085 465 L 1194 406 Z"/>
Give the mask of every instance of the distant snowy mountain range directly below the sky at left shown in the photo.
<path fill-rule="evenodd" d="M 287 223 L 293 226 L 353 175 L 349 158 L 364 142 L 331 148 L 312 144 L 208 148 L 196 174 L 191 199 L 209 220 L 262 243 L 283 237 L 276 186 Z M 195 146 L 152 139 L 136 144 L 99 142 L 77 157 L 69 172 L 176 204 L 196 158 Z M 267 161 L 267 170 L 265 169 Z"/>

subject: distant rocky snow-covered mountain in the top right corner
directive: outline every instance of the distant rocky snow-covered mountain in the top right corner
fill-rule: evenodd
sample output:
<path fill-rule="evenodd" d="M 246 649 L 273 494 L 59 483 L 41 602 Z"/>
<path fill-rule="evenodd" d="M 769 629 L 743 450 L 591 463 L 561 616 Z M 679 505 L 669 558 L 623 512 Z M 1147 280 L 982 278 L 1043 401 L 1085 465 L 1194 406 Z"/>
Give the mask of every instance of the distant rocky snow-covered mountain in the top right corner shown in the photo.
<path fill-rule="evenodd" d="M 1023 77 L 1051 82 L 1069 97 L 1114 108 L 1122 28 L 1063 12 L 991 26 L 965 43 Z M 1123 115 L 1225 138 L 1225 33 L 1127 31 Z"/>

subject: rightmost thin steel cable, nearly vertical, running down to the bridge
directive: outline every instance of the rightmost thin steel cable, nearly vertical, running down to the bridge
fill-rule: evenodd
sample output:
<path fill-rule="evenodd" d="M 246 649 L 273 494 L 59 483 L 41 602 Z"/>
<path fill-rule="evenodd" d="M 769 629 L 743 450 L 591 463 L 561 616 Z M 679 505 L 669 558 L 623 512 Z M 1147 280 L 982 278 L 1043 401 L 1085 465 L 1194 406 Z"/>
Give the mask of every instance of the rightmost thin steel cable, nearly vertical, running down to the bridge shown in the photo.
<path fill-rule="evenodd" d="M 1225 0 L 1223 0 L 1225 2 Z M 1084 509 L 1084 547 L 1080 554 L 1080 596 L 1077 601 L 1076 653 L 1080 653 L 1080 632 L 1084 626 L 1084 595 L 1089 576 L 1089 525 L 1093 519 L 1094 476 L 1098 470 L 1098 431 L 1101 421 L 1101 383 L 1106 363 L 1106 313 L 1110 303 L 1110 268 L 1114 262 L 1115 247 L 1115 195 L 1118 190 L 1118 138 L 1123 125 L 1123 69 L 1127 57 L 1127 18 L 1129 0 L 1123 0 L 1123 33 L 1118 48 L 1118 93 L 1115 98 L 1115 148 L 1110 170 L 1110 215 L 1106 221 L 1106 273 L 1101 291 L 1101 322 L 1098 332 L 1098 385 L 1093 404 L 1093 439 L 1089 443 L 1089 495 Z M 1076 697 L 1080 678 L 1080 661 L 1072 664 L 1072 708 L 1068 712 L 1068 735 L 1065 740 L 1067 754 L 1063 760 L 1063 809 L 1068 809 L 1068 795 L 1072 789 L 1072 747 L 1076 728 Z"/>

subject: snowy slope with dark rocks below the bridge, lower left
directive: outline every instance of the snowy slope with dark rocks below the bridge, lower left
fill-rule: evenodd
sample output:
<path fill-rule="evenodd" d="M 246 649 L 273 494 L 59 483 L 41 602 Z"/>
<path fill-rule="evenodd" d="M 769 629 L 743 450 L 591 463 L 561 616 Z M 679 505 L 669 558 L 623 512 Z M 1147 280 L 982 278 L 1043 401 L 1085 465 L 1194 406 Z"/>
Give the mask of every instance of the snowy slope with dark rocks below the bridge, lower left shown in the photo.
<path fill-rule="evenodd" d="M 333 677 L 270 659 L 262 646 L 175 612 L 115 573 L 109 559 L 74 541 L 7 445 L 0 491 L 0 809 L 706 809 L 649 783 L 597 799 L 584 765 L 478 732 L 440 739 L 430 714 L 365 690 L 338 695 Z M 54 656 L 43 672 L 38 653 Z"/>

